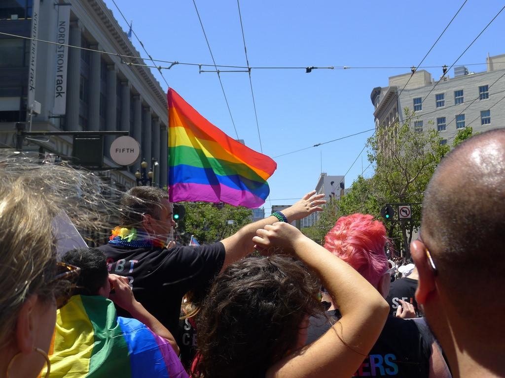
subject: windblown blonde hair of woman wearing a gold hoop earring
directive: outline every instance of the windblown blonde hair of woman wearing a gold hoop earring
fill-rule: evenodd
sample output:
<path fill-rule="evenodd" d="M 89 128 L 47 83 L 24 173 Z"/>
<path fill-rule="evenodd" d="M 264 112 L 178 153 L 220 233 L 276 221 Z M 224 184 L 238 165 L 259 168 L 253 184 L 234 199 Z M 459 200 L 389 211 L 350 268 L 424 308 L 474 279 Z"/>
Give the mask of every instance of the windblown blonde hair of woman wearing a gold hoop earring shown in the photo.
<path fill-rule="evenodd" d="M 0 150 L 0 347 L 27 297 L 54 300 L 55 216 L 65 210 L 78 229 L 105 226 L 93 210 L 105 205 L 100 182 L 89 172 Z"/>

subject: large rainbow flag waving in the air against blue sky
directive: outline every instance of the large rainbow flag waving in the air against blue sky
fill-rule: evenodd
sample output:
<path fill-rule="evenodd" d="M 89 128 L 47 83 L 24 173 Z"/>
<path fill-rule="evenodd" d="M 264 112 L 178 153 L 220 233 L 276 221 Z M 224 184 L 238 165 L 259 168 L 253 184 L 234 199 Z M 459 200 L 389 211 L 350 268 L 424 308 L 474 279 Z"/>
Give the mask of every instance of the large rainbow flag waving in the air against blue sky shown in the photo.
<path fill-rule="evenodd" d="M 257 208 L 277 164 L 228 137 L 168 90 L 169 193 L 172 202 L 225 202 Z"/>

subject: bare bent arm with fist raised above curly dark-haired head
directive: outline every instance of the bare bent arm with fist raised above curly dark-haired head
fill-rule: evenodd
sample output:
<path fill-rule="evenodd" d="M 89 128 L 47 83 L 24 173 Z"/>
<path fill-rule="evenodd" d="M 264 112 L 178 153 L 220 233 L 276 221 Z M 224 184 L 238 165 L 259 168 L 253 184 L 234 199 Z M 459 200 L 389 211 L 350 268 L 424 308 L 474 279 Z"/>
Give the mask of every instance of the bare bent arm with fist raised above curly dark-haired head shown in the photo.
<path fill-rule="evenodd" d="M 380 335 L 387 302 L 356 270 L 287 223 L 266 225 L 253 240 L 261 248 L 282 246 L 303 261 L 319 275 L 342 314 L 323 336 L 275 363 L 266 376 L 352 376 Z"/>

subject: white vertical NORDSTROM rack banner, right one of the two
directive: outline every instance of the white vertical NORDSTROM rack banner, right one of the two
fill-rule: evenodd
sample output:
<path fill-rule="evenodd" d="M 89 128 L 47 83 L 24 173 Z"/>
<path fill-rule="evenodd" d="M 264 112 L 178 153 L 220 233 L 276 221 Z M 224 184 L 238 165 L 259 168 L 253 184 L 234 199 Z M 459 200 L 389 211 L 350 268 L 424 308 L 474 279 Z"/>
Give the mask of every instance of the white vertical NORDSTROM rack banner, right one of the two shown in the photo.
<path fill-rule="evenodd" d="M 70 34 L 70 4 L 58 4 L 56 42 L 68 45 Z M 53 114 L 65 114 L 67 104 L 68 46 L 56 45 L 55 105 Z"/>

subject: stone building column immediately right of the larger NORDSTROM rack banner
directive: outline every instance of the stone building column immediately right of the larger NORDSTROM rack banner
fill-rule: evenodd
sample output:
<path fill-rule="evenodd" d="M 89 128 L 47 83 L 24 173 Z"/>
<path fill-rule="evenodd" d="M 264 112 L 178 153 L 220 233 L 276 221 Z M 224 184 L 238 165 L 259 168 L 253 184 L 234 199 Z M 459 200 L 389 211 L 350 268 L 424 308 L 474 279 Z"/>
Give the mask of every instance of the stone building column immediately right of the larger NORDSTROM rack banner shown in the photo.
<path fill-rule="evenodd" d="M 69 44 L 81 45 L 82 26 L 79 21 L 70 23 Z M 67 71 L 67 111 L 65 115 L 65 130 L 81 131 L 79 127 L 79 88 L 81 82 L 81 50 L 68 49 Z"/>

